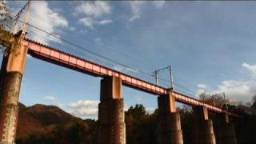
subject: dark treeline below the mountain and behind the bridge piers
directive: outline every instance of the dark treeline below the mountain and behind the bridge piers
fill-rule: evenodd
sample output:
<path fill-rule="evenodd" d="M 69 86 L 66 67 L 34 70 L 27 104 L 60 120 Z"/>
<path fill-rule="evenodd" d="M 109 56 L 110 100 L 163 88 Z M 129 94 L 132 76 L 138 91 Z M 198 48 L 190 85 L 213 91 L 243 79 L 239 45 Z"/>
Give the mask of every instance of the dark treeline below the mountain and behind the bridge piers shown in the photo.
<path fill-rule="evenodd" d="M 254 144 L 256 142 L 256 117 L 238 106 L 227 105 L 230 111 L 243 116 L 242 119 L 231 118 L 236 128 L 238 143 Z M 185 144 L 193 142 L 193 113 L 189 106 L 178 109 L 182 119 L 182 132 Z M 218 118 L 210 113 L 210 118 Z M 18 144 L 32 143 L 88 143 L 94 144 L 97 139 L 97 121 L 74 118 L 65 124 L 46 126 L 41 132 L 22 135 L 17 138 Z M 214 130 L 217 130 L 214 127 Z M 43 132 L 42 132 L 43 131 Z M 130 106 L 126 111 L 126 143 L 146 144 L 158 141 L 158 110 L 149 114 L 142 105 Z"/>

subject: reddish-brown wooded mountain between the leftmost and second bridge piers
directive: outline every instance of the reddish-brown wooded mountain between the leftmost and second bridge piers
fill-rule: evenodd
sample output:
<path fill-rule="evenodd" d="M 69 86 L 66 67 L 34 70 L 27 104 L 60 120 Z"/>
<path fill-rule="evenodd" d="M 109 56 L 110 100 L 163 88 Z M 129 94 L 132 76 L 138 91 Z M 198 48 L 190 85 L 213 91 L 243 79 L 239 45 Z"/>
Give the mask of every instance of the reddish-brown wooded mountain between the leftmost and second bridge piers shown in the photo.
<path fill-rule="evenodd" d="M 92 143 L 96 122 L 82 120 L 58 106 L 19 103 L 17 144 L 19 143 Z"/>

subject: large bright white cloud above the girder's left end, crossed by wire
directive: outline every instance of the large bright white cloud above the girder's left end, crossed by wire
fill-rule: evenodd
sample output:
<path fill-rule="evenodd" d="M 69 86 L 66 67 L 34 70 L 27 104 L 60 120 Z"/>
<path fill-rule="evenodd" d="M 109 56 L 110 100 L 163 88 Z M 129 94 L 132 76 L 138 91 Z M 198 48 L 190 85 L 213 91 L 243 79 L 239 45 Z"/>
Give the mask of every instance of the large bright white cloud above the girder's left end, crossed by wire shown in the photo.
<path fill-rule="evenodd" d="M 58 35 L 57 31 L 60 31 L 59 28 L 68 26 L 66 18 L 62 17 L 58 12 L 51 10 L 46 1 L 32 2 L 30 23 L 55 35 Z M 45 44 L 49 44 L 50 41 L 60 42 L 58 38 L 53 38 L 33 27 L 29 27 L 29 29 L 29 32 L 32 32 L 30 33 L 30 38 L 33 38 L 35 41 Z"/>

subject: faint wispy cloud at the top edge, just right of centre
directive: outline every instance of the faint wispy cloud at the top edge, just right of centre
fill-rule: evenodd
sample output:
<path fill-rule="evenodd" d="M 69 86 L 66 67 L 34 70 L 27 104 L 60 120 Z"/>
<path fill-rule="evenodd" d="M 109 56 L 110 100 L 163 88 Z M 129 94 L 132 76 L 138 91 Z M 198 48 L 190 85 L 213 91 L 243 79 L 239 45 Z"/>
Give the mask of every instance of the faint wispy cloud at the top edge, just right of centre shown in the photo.
<path fill-rule="evenodd" d="M 146 3 L 145 1 L 130 1 L 130 8 L 132 10 L 132 17 L 129 19 L 133 22 L 135 19 L 139 19 L 141 15 L 142 5 Z"/>

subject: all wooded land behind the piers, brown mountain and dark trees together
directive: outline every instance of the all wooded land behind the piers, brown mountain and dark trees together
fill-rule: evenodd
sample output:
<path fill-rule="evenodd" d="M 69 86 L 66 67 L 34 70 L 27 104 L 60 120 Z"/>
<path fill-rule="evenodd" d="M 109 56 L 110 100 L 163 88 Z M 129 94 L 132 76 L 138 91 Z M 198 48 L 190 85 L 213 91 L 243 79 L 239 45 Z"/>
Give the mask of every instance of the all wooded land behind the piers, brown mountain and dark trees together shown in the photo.
<path fill-rule="evenodd" d="M 204 98 L 206 102 L 209 97 Z M 254 108 L 256 98 L 251 107 Z M 234 123 L 238 143 L 256 142 L 255 109 L 248 106 L 227 105 L 228 110 L 240 114 L 243 119 L 231 119 Z M 193 113 L 190 106 L 178 109 L 181 114 L 184 144 L 193 142 Z M 130 106 L 126 111 L 126 143 L 154 144 L 158 139 L 158 110 L 147 112 L 142 105 Z M 98 122 L 76 118 L 57 106 L 19 104 L 17 144 L 96 144 Z M 217 116 L 210 113 L 215 122 Z M 214 125 L 215 126 L 215 125 Z M 217 130 L 214 127 L 214 130 Z"/>

